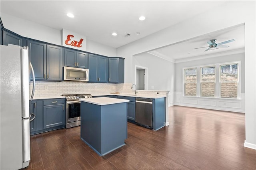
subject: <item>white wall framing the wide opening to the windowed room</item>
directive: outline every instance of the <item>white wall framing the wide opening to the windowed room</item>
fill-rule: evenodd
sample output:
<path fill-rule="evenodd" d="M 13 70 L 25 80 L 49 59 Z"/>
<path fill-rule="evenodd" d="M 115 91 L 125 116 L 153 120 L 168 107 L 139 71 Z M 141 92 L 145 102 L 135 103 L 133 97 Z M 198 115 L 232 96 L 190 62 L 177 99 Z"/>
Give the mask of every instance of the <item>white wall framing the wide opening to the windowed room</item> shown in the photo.
<path fill-rule="evenodd" d="M 212 12 L 202 13 L 174 26 L 116 49 L 125 58 L 125 82 L 134 81 L 133 55 L 188 40 L 217 30 L 245 24 L 245 119 L 244 146 L 256 149 L 256 52 L 255 1 L 227 1 Z M 132 71 L 131 71 L 132 69 Z M 164 79 L 164 77 L 162 77 Z M 164 81 L 164 80 L 162 80 Z"/>

